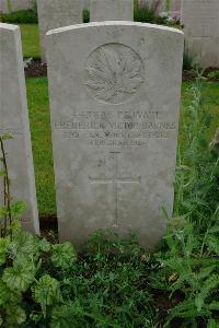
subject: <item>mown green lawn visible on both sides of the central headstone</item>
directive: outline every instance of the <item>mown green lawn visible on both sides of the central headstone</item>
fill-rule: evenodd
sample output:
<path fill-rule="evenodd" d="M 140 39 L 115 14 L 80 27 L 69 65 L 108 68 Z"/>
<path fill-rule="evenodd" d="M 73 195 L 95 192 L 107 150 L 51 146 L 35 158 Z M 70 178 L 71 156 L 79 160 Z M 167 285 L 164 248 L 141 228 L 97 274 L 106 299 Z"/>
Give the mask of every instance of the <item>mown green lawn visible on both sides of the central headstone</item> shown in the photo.
<path fill-rule="evenodd" d="M 27 79 L 26 85 L 39 214 L 41 218 L 56 215 L 47 79 Z M 182 124 L 186 124 L 186 110 L 192 99 L 189 86 L 191 83 L 183 83 Z M 204 83 L 203 93 L 207 99 L 206 110 L 214 117 L 207 140 L 209 142 L 219 126 L 219 83 Z M 186 136 L 180 132 L 181 148 L 183 148 L 185 138 Z"/>

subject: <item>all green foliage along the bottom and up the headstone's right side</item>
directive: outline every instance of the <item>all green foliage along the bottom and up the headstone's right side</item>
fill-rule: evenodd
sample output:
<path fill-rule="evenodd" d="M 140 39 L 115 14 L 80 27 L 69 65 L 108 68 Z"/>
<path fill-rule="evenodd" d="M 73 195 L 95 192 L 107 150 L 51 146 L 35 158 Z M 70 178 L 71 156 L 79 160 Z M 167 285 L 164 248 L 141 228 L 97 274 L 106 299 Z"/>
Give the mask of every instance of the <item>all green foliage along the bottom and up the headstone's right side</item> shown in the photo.
<path fill-rule="evenodd" d="M 79 254 L 13 220 L 0 238 L 1 327 L 219 327 L 219 152 L 201 82 L 181 122 L 174 218 L 157 249 L 105 232 Z M 14 206 L 13 218 L 22 210 Z"/>

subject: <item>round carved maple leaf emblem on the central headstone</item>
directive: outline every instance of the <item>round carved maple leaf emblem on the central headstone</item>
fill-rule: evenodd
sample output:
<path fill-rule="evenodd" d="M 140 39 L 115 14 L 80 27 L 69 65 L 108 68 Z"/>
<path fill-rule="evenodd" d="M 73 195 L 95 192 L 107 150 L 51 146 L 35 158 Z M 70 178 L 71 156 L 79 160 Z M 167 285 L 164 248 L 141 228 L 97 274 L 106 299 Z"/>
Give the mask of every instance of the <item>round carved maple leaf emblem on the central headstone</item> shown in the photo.
<path fill-rule="evenodd" d="M 84 84 L 99 101 L 108 104 L 124 103 L 143 82 L 143 61 L 130 47 L 107 44 L 88 57 Z"/>

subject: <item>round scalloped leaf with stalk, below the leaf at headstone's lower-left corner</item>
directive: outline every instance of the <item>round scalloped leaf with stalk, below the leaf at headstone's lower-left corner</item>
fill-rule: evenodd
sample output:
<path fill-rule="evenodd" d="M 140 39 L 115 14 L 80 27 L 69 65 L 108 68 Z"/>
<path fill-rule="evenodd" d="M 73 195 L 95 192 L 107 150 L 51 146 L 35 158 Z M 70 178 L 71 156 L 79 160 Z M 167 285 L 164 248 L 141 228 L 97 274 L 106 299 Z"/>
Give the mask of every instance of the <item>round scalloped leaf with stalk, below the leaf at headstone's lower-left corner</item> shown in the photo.
<path fill-rule="evenodd" d="M 46 317 L 46 307 L 61 300 L 59 282 L 49 274 L 44 274 L 32 291 L 34 300 L 41 304 L 44 317 Z"/>

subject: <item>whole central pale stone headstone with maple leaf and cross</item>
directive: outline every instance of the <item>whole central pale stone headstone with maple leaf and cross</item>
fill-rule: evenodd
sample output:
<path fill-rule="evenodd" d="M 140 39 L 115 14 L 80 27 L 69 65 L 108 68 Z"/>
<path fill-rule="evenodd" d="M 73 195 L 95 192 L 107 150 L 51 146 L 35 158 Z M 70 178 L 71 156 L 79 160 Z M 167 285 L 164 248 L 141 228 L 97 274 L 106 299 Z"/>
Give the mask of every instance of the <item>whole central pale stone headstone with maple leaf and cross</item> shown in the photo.
<path fill-rule="evenodd" d="M 131 22 L 47 34 L 60 239 L 153 246 L 172 214 L 183 33 Z"/>

